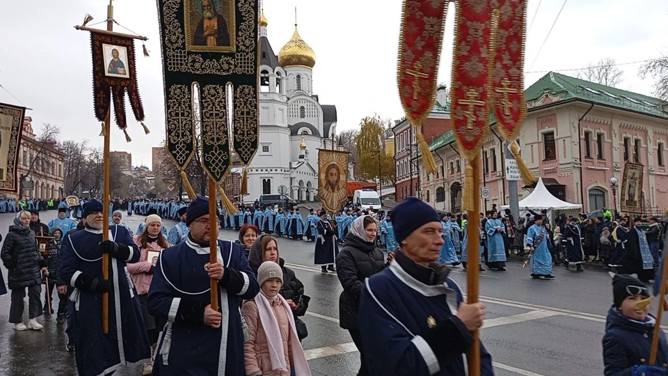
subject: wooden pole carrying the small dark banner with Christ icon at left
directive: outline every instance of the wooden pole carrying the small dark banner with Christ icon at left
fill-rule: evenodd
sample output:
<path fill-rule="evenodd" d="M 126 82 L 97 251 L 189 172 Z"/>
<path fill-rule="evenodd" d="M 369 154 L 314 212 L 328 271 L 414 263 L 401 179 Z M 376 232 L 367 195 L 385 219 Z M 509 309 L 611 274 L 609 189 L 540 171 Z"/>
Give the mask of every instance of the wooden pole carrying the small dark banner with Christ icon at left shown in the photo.
<path fill-rule="evenodd" d="M 106 7 L 106 30 L 113 31 L 113 5 L 109 0 Z M 102 241 L 109 240 L 109 131 L 111 130 L 111 109 L 104 119 L 104 185 L 102 187 Z M 109 279 L 109 254 L 102 255 L 102 279 Z M 102 332 L 109 333 L 109 292 L 102 292 Z"/>

